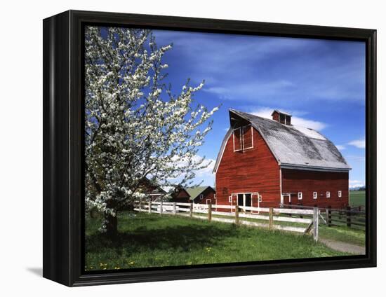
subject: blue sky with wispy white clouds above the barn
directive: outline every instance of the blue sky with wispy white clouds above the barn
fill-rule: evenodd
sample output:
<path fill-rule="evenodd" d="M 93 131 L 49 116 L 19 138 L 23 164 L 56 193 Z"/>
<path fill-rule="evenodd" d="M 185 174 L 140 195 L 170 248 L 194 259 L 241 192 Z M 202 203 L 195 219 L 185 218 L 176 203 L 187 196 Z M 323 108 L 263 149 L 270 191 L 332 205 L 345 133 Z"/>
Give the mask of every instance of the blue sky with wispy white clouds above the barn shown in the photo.
<path fill-rule="evenodd" d="M 318 130 L 351 165 L 350 186 L 365 182 L 365 44 L 267 36 L 154 31 L 167 81 L 177 94 L 191 79 L 205 80 L 195 102 L 213 108 L 213 130 L 199 156 L 215 160 L 229 127 L 228 109 L 269 117 L 288 111 L 293 124 Z M 214 162 L 213 162 L 214 163 Z M 213 164 L 196 181 L 213 186 Z"/>

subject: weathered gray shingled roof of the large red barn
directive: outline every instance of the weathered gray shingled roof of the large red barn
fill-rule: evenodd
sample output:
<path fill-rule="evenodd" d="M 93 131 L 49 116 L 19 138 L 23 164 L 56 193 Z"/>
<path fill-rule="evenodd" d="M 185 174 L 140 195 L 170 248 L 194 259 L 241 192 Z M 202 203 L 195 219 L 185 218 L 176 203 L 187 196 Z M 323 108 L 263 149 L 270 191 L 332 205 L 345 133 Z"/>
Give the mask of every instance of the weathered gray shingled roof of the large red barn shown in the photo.
<path fill-rule="evenodd" d="M 260 132 L 281 167 L 296 167 L 308 170 L 347 171 L 350 165 L 338 148 L 324 135 L 310 128 L 284 125 L 276 120 L 254 116 L 250 113 L 229 109 L 230 113 L 248 120 Z M 217 170 L 229 129 L 222 142 L 213 172 Z"/>

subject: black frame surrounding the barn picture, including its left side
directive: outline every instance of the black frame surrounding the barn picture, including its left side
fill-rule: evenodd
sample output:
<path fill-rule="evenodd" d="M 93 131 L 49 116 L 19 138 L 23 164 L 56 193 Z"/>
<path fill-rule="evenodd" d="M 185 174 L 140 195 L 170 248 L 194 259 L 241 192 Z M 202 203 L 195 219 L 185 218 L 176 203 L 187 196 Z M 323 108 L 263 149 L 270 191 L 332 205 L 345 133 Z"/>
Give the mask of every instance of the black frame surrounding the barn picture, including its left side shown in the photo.
<path fill-rule="evenodd" d="M 83 28 L 86 24 L 366 43 L 366 255 L 84 272 Z M 43 22 L 43 276 L 66 286 L 376 266 L 376 30 L 161 15 L 66 11 Z"/>

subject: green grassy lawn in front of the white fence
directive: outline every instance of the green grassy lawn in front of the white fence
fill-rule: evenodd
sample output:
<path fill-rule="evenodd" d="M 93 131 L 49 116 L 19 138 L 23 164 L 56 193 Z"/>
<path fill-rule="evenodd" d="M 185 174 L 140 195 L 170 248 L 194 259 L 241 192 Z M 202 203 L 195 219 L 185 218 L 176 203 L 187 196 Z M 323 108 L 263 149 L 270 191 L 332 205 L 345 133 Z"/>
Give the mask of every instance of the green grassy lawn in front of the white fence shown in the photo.
<path fill-rule="evenodd" d="M 114 242 L 86 218 L 86 270 L 345 256 L 310 236 L 180 216 L 119 215 Z"/>

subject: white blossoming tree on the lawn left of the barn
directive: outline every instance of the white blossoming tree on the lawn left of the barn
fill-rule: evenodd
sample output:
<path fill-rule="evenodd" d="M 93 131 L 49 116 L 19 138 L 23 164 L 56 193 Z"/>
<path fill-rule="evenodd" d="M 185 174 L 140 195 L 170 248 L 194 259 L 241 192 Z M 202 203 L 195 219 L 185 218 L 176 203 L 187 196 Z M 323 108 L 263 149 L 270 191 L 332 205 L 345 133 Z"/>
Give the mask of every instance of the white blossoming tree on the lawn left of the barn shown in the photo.
<path fill-rule="evenodd" d="M 86 207 L 114 237 L 117 212 L 143 198 L 145 179 L 187 186 L 208 165 L 197 151 L 218 108 L 192 107 L 202 83 L 172 94 L 161 62 L 172 46 L 157 47 L 149 30 L 86 27 L 85 46 Z"/>

